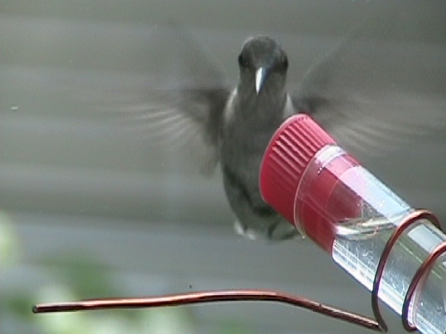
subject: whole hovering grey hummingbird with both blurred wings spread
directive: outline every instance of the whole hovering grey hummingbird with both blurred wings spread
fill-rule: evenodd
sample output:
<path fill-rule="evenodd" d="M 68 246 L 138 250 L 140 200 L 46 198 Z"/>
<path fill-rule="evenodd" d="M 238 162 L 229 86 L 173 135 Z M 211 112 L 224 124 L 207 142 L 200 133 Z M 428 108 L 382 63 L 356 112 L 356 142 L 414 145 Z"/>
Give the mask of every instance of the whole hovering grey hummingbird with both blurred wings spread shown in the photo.
<path fill-rule="evenodd" d="M 404 135 L 445 124 L 443 103 L 434 108 L 429 118 L 420 120 L 419 109 L 408 105 L 395 106 L 385 100 L 383 107 L 383 99 L 373 103 L 354 95 L 346 97 L 340 89 L 327 90 L 330 84 L 333 86 L 330 74 L 336 72 L 333 69 L 341 58 L 339 49 L 335 47 L 316 62 L 293 93 L 286 86 L 288 56 L 279 42 L 266 35 L 247 38 L 238 57 L 234 57 L 239 75 L 233 88 L 217 84 L 155 89 L 160 93 L 155 100 L 164 102 L 152 104 L 141 119 L 151 122 L 148 131 L 161 129 L 163 134 L 170 133 L 198 152 L 202 173 L 212 173 L 220 164 L 238 234 L 269 240 L 300 236 L 263 201 L 259 190 L 263 153 L 276 129 L 289 116 L 307 113 L 341 145 L 353 152 L 360 148 L 368 153 L 369 148 L 385 150 L 401 142 Z M 215 73 L 212 68 L 209 71 Z M 390 105 L 392 112 L 387 108 Z"/>

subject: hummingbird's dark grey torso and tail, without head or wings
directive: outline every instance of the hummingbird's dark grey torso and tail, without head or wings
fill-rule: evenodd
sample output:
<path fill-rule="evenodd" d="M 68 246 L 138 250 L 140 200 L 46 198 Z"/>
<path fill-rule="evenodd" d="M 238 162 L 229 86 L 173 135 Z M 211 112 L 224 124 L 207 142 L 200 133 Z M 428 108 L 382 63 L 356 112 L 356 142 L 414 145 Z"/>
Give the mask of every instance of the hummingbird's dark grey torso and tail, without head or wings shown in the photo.
<path fill-rule="evenodd" d="M 243 114 L 243 110 L 253 108 L 260 113 L 267 112 L 261 109 L 269 103 L 262 104 L 261 100 L 259 98 L 255 104 L 244 106 L 238 99 L 237 90 L 234 90 L 226 106 L 225 116 L 232 115 L 226 118 L 219 138 L 224 190 L 237 216 L 235 228 L 239 234 L 249 239 L 259 235 L 268 239 L 289 239 L 298 234 L 297 230 L 261 198 L 259 166 L 272 134 L 286 118 L 284 111 L 292 109 L 291 101 L 288 108 L 282 106 L 282 111 L 278 109 L 269 117 L 255 119 L 255 113 Z"/>

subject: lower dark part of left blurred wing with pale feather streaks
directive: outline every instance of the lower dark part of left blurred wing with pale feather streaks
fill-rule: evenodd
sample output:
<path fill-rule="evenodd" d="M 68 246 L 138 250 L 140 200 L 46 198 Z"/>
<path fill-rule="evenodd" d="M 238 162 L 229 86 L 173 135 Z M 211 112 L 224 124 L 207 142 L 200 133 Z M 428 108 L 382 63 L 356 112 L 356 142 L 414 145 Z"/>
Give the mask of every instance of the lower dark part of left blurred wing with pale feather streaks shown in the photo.
<path fill-rule="evenodd" d="M 126 124 L 162 150 L 193 159 L 201 173 L 212 173 L 219 158 L 218 134 L 228 90 L 159 88 L 150 94 L 148 104 L 124 110 Z"/>

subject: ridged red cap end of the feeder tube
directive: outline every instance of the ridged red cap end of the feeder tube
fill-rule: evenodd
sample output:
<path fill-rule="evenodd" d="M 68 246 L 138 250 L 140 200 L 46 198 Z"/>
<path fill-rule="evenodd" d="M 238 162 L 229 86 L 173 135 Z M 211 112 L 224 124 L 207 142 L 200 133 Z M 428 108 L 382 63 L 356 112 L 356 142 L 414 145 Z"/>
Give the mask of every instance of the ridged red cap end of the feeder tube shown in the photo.
<path fill-rule="evenodd" d="M 288 118 L 272 136 L 261 164 L 260 191 L 263 200 L 295 226 L 295 195 L 305 168 L 321 148 L 334 143 L 305 114 Z"/>

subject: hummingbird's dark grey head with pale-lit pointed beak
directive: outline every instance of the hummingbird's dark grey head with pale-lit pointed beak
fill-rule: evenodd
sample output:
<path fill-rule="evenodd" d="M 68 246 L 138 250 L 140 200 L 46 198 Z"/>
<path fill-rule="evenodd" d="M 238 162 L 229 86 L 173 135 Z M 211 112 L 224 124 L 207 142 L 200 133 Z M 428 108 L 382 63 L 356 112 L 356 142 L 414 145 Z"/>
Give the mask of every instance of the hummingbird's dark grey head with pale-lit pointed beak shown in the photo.
<path fill-rule="evenodd" d="M 272 94 L 284 90 L 288 58 L 282 47 L 267 36 L 254 36 L 243 44 L 238 56 L 239 88 Z"/>

